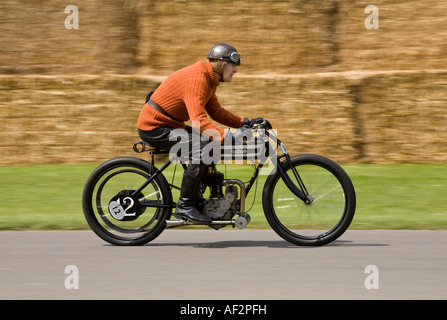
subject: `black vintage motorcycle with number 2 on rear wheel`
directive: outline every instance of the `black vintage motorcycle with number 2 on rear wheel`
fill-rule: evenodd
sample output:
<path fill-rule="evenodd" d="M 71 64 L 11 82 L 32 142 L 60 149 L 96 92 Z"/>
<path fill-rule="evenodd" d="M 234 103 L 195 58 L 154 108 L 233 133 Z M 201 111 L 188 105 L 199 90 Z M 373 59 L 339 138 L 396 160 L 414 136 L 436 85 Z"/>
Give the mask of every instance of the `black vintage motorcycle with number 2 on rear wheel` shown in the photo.
<path fill-rule="evenodd" d="M 340 237 L 351 224 L 356 208 L 355 190 L 347 173 L 320 155 L 290 156 L 265 119 L 251 129 L 257 141 L 257 160 L 248 182 L 227 179 L 215 164 L 210 164 L 203 176 L 196 207 L 211 218 L 207 226 L 216 230 L 227 225 L 239 229 L 247 226 L 247 195 L 270 161 L 273 170 L 264 184 L 262 206 L 271 228 L 290 243 L 303 246 L 321 246 Z M 239 150 L 233 146 L 230 151 L 222 151 L 222 158 L 230 155 L 248 159 L 252 151 L 249 146 L 244 143 Z M 171 156 L 169 150 L 143 141 L 133 148 L 138 153 L 148 152 L 150 162 L 136 157 L 110 159 L 87 179 L 82 206 L 91 229 L 111 244 L 142 245 L 166 227 L 200 224 L 171 217 L 176 206 L 172 188 L 180 188 L 174 185 L 174 179 L 169 183 L 163 171 L 179 162 L 185 169 L 184 161 L 178 161 L 179 155 Z M 154 155 L 160 154 L 169 158 L 157 169 Z M 209 196 L 205 195 L 207 189 Z"/>

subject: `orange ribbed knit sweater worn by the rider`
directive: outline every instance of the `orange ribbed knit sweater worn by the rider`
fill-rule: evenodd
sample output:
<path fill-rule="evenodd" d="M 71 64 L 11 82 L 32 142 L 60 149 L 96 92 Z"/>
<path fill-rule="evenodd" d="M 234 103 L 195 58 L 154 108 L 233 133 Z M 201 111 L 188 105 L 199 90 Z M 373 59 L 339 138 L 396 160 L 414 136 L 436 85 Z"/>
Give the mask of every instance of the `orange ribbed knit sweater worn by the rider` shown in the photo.
<path fill-rule="evenodd" d="M 215 94 L 218 85 L 209 62 L 200 61 L 174 72 L 155 90 L 151 100 L 181 121 L 172 120 L 146 103 L 138 118 L 138 128 L 146 131 L 159 126 L 184 129 L 185 121 L 200 121 L 201 134 L 214 129 L 223 141 L 224 131 L 208 119 L 207 113 L 213 120 L 232 128 L 239 128 L 243 118 L 222 108 Z"/>

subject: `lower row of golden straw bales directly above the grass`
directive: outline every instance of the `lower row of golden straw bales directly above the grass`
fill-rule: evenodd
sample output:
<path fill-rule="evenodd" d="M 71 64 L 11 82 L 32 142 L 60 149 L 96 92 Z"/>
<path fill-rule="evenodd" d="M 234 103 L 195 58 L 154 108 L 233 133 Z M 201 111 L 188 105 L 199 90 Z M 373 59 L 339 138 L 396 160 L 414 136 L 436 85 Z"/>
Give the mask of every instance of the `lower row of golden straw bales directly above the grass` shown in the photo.
<path fill-rule="evenodd" d="M 0 164 L 134 155 L 145 94 L 163 77 L 0 76 Z M 447 72 L 241 76 L 226 108 L 268 118 L 289 151 L 340 162 L 447 161 Z M 243 106 L 243 108 L 241 107 Z"/>

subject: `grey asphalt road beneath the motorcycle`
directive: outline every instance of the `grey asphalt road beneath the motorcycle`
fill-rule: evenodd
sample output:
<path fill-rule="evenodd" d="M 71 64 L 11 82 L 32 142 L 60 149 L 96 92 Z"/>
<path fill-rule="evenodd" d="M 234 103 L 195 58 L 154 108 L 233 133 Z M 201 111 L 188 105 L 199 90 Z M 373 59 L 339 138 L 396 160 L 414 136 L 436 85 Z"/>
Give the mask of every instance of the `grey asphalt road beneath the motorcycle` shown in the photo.
<path fill-rule="evenodd" d="M 0 299 L 447 298 L 447 231 L 348 230 L 324 247 L 272 230 L 165 230 L 140 247 L 2 231 L 0 259 Z"/>

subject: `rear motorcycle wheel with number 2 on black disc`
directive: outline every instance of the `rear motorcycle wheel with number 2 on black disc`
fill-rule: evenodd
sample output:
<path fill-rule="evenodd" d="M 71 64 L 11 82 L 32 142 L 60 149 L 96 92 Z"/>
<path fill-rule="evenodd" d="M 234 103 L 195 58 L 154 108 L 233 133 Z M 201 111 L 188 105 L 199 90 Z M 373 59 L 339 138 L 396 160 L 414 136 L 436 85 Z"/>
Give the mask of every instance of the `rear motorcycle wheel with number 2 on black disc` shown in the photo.
<path fill-rule="evenodd" d="M 84 215 L 103 240 L 141 245 L 166 227 L 172 195 L 163 175 L 136 192 L 149 179 L 149 169 L 144 160 L 121 157 L 104 162 L 88 178 L 82 196 Z"/>

